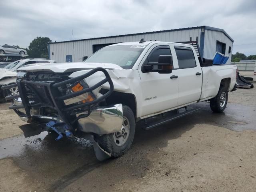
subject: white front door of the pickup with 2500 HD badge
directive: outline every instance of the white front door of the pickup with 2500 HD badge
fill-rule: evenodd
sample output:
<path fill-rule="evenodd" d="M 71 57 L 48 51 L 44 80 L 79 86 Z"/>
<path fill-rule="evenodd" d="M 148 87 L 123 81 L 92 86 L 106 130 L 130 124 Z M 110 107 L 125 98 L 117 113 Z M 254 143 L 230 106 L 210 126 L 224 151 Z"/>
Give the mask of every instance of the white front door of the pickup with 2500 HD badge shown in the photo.
<path fill-rule="evenodd" d="M 146 56 L 142 60 L 142 63 L 147 59 L 147 56 L 149 56 L 150 62 L 157 62 L 156 59 L 158 59 L 159 55 L 166 54 L 170 54 L 169 46 L 154 45 L 148 50 Z M 154 58 L 152 58 L 152 56 Z M 142 94 L 141 116 L 147 116 L 176 107 L 178 102 L 179 80 L 171 79 L 170 77 L 172 74 L 142 72 L 141 67 L 142 65 L 139 66 Z"/>

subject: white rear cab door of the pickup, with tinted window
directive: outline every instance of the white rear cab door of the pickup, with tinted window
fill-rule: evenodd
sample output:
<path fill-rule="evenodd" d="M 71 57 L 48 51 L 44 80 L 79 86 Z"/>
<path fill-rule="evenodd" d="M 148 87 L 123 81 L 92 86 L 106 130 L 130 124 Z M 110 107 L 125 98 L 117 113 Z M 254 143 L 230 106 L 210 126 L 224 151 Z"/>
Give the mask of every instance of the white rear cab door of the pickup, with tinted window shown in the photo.
<path fill-rule="evenodd" d="M 178 68 L 173 70 L 179 78 L 178 106 L 199 100 L 202 88 L 202 69 L 194 49 L 174 45 Z"/>

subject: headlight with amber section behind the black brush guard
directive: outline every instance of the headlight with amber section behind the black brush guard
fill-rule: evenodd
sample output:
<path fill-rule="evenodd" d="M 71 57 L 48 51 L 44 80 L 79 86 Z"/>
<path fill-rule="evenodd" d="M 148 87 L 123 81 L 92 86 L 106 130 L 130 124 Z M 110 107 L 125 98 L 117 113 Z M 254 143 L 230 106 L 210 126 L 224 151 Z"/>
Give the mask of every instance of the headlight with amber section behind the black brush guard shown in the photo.
<path fill-rule="evenodd" d="M 70 85 L 69 88 L 66 89 L 66 94 L 70 94 L 70 93 L 73 93 L 73 92 L 78 92 L 78 91 L 83 90 L 83 89 L 84 89 L 84 86 L 82 85 L 82 83 L 77 82 L 73 85 Z M 66 100 L 64 100 L 64 103 L 65 103 L 65 105 L 70 105 L 70 104 L 74 104 L 74 103 L 81 104 L 81 103 L 91 102 L 93 100 L 94 100 L 93 94 L 90 93 L 90 92 L 87 92 L 87 93 L 78 95 L 76 97 L 66 99 Z"/>

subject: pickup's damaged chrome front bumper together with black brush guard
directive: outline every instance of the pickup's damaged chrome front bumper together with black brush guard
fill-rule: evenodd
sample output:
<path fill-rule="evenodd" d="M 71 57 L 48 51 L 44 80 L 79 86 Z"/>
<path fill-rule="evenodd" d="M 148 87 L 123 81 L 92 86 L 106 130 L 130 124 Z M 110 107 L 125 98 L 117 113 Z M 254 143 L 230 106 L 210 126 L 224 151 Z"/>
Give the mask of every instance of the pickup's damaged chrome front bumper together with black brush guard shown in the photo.
<path fill-rule="evenodd" d="M 60 86 L 74 84 L 98 71 L 103 72 L 106 78 L 94 86 L 64 96 L 59 94 L 58 88 Z M 90 92 L 106 82 L 110 84 L 110 90 L 95 100 L 72 105 L 64 103 L 65 100 Z M 65 123 L 73 132 L 78 130 L 93 134 L 110 134 L 118 132 L 122 128 L 122 104 L 98 106 L 113 91 L 112 80 L 104 68 L 95 68 L 81 76 L 57 83 L 21 79 L 17 80 L 17 84 L 11 86 L 18 86 L 19 94 L 6 97 L 7 99 L 13 99 L 13 104 L 9 108 L 13 109 L 22 120 L 40 125 L 42 131 L 47 129 L 45 125 L 49 121 Z M 7 88 L 10 88 L 10 86 L 3 87 L 3 89 Z M 58 116 L 42 115 L 41 109 L 45 107 L 56 110 Z M 43 126 L 44 128 L 42 128 Z"/>

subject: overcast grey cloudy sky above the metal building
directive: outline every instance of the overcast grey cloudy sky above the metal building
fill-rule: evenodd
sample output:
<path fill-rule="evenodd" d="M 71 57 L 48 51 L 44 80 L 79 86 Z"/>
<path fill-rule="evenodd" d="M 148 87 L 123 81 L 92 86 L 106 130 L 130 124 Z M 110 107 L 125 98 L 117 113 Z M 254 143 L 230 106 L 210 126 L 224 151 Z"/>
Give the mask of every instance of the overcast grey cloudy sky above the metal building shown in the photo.
<path fill-rule="evenodd" d="M 54 41 L 212 26 L 233 53 L 256 54 L 256 0 L 0 0 L 0 44 Z"/>

